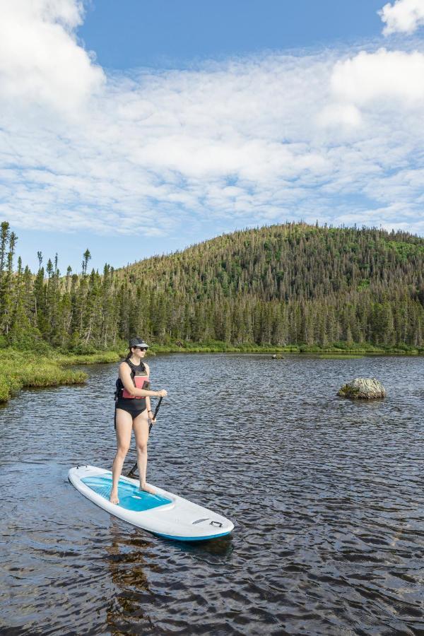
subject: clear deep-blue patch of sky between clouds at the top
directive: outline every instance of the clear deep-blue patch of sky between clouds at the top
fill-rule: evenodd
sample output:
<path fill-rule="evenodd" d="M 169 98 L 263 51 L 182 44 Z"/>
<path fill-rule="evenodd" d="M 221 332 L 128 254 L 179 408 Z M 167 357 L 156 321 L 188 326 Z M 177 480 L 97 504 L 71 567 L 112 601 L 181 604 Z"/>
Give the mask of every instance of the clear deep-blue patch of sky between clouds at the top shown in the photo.
<path fill-rule="evenodd" d="M 78 35 L 107 69 L 182 68 L 264 50 L 377 37 L 381 0 L 101 0 Z"/>

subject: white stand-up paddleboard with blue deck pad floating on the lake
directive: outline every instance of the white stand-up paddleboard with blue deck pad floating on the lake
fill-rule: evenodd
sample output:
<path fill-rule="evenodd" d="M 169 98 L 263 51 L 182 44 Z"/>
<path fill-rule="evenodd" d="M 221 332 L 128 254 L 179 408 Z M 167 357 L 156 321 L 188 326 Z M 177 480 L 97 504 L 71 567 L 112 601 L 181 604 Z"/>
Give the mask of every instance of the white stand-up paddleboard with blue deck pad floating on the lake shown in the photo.
<path fill-rule="evenodd" d="M 151 495 L 139 490 L 139 480 L 119 478 L 119 504 L 109 501 L 112 490 L 112 473 L 95 466 L 76 466 L 68 473 L 69 481 L 90 501 L 115 517 L 178 541 L 205 541 L 230 534 L 234 524 L 221 514 L 216 514 L 197 504 L 156 488 Z"/>

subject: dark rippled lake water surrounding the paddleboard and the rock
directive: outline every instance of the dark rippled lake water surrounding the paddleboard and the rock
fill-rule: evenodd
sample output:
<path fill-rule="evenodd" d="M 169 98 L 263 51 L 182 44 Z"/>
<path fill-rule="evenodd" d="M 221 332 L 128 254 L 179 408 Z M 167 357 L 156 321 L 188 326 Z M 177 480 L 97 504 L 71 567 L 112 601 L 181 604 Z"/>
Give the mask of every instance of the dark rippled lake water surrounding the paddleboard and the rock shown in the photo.
<path fill-rule="evenodd" d="M 67 481 L 110 467 L 114 365 L 23 391 L 0 410 L 1 635 L 424 633 L 423 358 L 150 363 L 148 481 L 235 531 L 164 541 Z M 336 397 L 360 375 L 387 399 Z"/>

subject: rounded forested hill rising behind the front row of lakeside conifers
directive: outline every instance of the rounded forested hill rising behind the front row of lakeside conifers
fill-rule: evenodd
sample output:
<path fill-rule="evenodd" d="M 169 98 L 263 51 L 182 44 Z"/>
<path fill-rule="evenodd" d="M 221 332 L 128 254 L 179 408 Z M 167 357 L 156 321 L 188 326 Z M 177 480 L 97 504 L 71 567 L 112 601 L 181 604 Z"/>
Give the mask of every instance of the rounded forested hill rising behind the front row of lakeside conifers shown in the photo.
<path fill-rule="evenodd" d="M 273 225 L 208 240 L 126 268 L 170 293 L 260 300 L 336 298 L 368 288 L 424 300 L 424 239 L 405 233 Z M 383 298 L 382 298 L 383 300 Z"/>

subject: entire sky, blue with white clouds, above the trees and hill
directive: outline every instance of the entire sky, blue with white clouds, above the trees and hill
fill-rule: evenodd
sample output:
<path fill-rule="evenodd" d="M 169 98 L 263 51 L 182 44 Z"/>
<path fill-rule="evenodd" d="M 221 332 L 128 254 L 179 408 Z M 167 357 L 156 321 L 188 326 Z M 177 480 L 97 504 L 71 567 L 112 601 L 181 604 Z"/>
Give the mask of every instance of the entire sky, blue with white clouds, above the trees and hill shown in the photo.
<path fill-rule="evenodd" d="M 0 220 L 35 269 L 303 220 L 424 235 L 424 0 L 0 0 Z"/>

